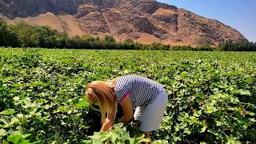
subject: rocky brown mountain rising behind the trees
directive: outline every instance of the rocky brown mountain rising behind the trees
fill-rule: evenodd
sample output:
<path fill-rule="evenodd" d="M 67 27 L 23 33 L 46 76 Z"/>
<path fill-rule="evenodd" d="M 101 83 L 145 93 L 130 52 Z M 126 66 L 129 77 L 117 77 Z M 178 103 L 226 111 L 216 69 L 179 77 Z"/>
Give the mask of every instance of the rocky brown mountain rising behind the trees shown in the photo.
<path fill-rule="evenodd" d="M 0 0 L 1 18 L 48 25 L 70 35 L 113 35 L 117 41 L 217 45 L 246 38 L 230 26 L 154 0 Z"/>

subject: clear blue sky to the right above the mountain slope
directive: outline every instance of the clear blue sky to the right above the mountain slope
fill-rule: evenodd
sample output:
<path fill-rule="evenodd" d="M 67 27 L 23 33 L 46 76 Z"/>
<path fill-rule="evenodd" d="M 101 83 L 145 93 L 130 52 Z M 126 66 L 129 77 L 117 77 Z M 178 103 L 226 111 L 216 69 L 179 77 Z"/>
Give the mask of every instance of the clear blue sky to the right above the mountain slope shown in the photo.
<path fill-rule="evenodd" d="M 256 42 L 256 0 L 157 0 L 217 19 Z"/>

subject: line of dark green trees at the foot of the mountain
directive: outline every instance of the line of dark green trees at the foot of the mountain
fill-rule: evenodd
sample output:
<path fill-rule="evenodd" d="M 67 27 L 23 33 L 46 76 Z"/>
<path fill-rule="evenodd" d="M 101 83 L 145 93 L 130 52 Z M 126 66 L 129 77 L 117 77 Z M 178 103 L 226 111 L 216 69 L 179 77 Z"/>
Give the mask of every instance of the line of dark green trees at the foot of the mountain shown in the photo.
<path fill-rule="evenodd" d="M 106 35 L 105 38 L 89 35 L 69 37 L 65 32 L 52 30 L 49 26 L 32 26 L 26 22 L 8 25 L 0 21 L 0 46 L 10 47 L 43 47 L 58 49 L 94 49 L 94 50 L 226 50 L 256 51 L 254 42 L 222 42 L 218 47 L 212 46 L 170 46 L 161 43 L 151 45 L 134 42 L 127 38 L 124 42 L 116 42 Z"/>

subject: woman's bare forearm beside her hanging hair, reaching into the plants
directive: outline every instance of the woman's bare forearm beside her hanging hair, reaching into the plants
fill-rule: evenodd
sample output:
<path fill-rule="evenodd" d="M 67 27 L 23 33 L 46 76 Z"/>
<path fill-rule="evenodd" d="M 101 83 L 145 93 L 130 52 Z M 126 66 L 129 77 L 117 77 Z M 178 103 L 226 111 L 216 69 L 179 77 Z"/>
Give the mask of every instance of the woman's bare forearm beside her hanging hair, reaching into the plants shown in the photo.
<path fill-rule="evenodd" d="M 112 113 L 107 114 L 105 122 L 103 122 L 102 129 L 100 130 L 100 132 L 110 130 L 110 128 L 114 125 L 114 119 L 115 119 L 116 113 L 117 113 L 117 103 L 114 104 L 114 110 L 112 110 Z"/>

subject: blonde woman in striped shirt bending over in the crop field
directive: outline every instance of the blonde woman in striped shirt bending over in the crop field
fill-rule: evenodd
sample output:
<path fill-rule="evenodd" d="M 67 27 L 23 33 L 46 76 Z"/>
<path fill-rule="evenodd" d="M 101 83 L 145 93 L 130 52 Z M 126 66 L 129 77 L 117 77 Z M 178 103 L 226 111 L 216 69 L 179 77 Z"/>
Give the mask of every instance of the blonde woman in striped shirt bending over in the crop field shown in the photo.
<path fill-rule="evenodd" d="M 114 125 L 119 103 L 124 114 L 119 122 L 127 123 L 134 117 L 141 122 L 139 130 L 148 138 L 151 131 L 158 130 L 168 102 L 166 90 L 160 83 L 138 75 L 126 75 L 110 82 L 91 82 L 86 98 L 88 102 L 98 102 L 102 115 L 101 132 Z M 134 114 L 133 108 L 136 108 Z"/>

